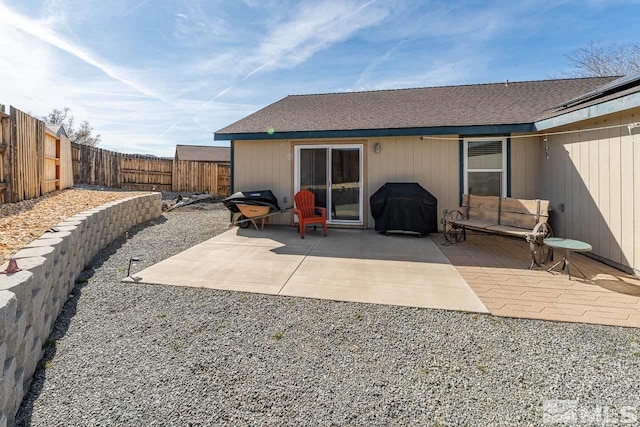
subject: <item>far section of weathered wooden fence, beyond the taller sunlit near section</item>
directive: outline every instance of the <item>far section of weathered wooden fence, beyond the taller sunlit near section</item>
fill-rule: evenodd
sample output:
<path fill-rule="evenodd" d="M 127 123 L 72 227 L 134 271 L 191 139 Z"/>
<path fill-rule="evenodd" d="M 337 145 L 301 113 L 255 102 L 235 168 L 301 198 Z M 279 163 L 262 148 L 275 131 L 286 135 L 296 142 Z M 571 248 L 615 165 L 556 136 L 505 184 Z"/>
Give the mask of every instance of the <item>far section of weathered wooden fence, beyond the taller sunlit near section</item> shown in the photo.
<path fill-rule="evenodd" d="M 131 190 L 189 191 L 228 195 L 228 163 L 176 161 L 123 154 L 72 144 L 73 176 L 77 183 Z"/>

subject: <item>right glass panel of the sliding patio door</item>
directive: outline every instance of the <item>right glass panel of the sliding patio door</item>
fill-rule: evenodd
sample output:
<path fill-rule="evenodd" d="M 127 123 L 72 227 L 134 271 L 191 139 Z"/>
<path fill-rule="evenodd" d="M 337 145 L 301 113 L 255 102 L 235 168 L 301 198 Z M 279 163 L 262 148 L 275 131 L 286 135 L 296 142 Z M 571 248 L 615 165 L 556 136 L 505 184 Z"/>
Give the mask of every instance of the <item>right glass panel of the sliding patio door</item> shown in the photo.
<path fill-rule="evenodd" d="M 360 221 L 360 148 L 331 148 L 331 219 Z"/>

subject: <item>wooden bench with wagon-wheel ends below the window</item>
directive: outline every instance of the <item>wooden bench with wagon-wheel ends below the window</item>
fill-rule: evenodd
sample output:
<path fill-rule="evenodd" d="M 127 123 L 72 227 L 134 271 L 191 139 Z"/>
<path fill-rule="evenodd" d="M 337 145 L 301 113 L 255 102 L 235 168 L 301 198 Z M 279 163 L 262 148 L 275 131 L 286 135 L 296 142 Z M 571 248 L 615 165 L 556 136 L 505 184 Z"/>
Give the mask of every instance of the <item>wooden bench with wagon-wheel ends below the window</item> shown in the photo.
<path fill-rule="evenodd" d="M 549 261 L 544 239 L 552 236 L 548 200 L 462 195 L 460 210 L 445 211 L 444 235 L 449 243 L 467 238 L 467 229 L 522 237 L 529 242 L 531 266 Z"/>

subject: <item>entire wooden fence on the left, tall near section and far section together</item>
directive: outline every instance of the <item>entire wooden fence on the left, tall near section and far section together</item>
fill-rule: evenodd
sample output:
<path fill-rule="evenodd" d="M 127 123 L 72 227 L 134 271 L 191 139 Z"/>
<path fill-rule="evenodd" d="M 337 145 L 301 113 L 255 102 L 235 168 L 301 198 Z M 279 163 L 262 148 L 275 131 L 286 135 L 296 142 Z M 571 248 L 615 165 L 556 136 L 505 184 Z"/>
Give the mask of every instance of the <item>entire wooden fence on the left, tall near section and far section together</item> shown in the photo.
<path fill-rule="evenodd" d="M 0 105 L 0 203 L 39 197 L 74 183 L 227 195 L 228 163 L 176 161 L 73 144 L 42 121 Z"/>

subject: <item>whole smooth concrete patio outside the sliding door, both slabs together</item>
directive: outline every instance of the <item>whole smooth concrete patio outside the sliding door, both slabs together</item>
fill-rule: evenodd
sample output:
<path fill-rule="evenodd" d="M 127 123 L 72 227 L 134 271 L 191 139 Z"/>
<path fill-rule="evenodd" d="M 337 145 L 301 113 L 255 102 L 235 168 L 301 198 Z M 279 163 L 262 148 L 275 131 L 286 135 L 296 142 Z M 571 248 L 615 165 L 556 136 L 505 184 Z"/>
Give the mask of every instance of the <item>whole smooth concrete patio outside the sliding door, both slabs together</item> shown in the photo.
<path fill-rule="evenodd" d="M 134 275 L 136 282 L 488 313 L 430 238 L 290 227 L 231 229 Z M 131 281 L 131 279 L 125 279 Z"/>

